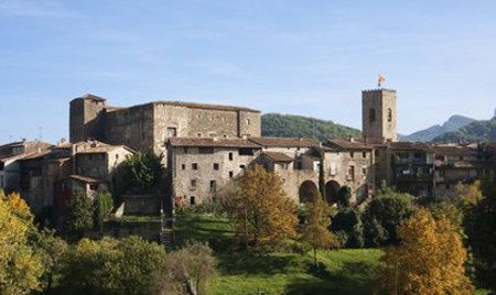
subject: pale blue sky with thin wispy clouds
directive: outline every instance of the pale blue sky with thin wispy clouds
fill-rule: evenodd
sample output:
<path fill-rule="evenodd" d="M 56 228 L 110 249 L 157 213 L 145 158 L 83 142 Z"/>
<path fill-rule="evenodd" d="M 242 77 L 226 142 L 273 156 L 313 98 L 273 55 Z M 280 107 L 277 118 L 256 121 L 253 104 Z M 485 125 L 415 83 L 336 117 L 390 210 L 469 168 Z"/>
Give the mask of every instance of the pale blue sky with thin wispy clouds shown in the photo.
<path fill-rule="evenodd" d="M 68 103 L 223 103 L 398 132 L 496 107 L 494 0 L 0 0 L 0 143 L 68 138 Z"/>

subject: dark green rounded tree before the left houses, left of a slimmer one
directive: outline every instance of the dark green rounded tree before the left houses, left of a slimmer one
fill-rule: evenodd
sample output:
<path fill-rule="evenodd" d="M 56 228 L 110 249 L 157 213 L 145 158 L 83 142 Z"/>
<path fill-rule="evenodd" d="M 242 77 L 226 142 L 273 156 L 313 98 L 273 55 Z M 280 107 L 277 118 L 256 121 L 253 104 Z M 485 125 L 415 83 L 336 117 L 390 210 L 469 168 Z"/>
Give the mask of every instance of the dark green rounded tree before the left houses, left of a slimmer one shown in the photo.
<path fill-rule="evenodd" d="M 85 230 L 94 226 L 95 207 L 83 190 L 77 190 L 67 204 L 65 227 L 69 234 L 82 238 Z"/>

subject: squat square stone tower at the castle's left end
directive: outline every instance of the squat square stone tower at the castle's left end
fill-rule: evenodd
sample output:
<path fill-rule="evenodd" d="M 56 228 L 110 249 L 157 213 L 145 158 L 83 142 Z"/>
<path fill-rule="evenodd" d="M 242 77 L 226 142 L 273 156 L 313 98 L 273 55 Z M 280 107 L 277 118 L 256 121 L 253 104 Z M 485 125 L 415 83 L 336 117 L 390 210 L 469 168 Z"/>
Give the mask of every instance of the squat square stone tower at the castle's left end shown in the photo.
<path fill-rule="evenodd" d="M 94 95 L 85 95 L 71 101 L 69 141 L 78 142 L 101 136 L 101 116 L 105 99 Z"/>

